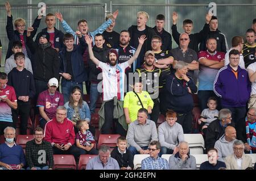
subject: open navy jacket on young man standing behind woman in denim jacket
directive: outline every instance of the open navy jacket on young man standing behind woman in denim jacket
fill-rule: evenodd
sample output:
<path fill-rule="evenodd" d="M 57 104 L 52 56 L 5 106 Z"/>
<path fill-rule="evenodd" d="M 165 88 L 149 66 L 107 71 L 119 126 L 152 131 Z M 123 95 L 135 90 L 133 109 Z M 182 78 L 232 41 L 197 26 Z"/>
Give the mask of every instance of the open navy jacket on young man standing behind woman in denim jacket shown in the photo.
<path fill-rule="evenodd" d="M 74 44 L 71 54 L 73 78 L 76 83 L 82 83 L 88 79 L 87 74 L 85 73 L 84 60 L 82 59 L 82 54 L 84 54 L 87 44 L 84 42 L 84 38 L 80 38 L 79 42 L 79 45 Z M 65 57 L 65 52 L 65 49 L 59 52 L 60 73 L 67 73 L 67 60 Z M 66 81 L 67 80 L 65 78 L 61 79 L 61 84 Z"/>

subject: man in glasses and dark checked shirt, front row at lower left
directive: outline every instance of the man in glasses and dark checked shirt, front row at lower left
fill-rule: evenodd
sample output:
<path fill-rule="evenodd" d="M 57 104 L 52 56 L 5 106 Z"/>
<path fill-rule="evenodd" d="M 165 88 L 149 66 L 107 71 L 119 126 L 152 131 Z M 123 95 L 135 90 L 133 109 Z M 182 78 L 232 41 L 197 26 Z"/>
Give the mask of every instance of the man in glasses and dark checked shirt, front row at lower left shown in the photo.
<path fill-rule="evenodd" d="M 28 170 L 52 170 L 53 152 L 49 142 L 43 140 L 44 130 L 40 127 L 34 130 L 34 140 L 26 144 L 26 161 Z"/>

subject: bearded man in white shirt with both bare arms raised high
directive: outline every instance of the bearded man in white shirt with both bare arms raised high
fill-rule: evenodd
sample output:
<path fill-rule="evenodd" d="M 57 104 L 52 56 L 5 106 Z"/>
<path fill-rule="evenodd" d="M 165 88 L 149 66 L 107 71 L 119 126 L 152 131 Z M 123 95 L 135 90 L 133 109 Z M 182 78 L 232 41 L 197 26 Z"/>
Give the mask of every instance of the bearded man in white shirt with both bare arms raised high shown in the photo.
<path fill-rule="evenodd" d="M 118 53 L 115 49 L 110 49 L 108 52 L 108 63 L 99 61 L 94 57 L 92 51 L 92 40 L 88 35 L 85 36 L 86 43 L 89 48 L 90 60 L 94 62 L 102 70 L 103 84 L 103 100 L 101 109 L 98 112 L 100 115 L 100 124 L 102 134 L 112 134 L 113 119 L 118 119 L 116 131 L 121 136 L 126 136 L 127 124 L 123 113 L 123 97 L 125 84 L 125 69 L 128 68 L 138 57 L 142 45 L 146 40 L 146 36 L 142 35 L 139 40 L 139 46 L 133 57 L 128 61 L 117 64 Z"/>

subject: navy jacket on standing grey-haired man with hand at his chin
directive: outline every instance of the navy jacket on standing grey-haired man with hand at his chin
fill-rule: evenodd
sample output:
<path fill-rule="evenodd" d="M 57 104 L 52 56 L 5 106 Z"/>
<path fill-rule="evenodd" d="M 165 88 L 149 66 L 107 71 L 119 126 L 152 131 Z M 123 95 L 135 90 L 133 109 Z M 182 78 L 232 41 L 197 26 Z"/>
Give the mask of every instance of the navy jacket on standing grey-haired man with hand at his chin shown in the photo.
<path fill-rule="evenodd" d="M 175 74 L 170 74 L 166 78 L 166 107 L 167 109 L 174 110 L 177 113 L 188 113 L 192 111 L 194 103 L 192 94 L 188 92 L 188 87 L 192 93 L 197 91 L 197 87 L 193 79 L 189 77 L 186 82 L 183 79 L 178 79 Z"/>

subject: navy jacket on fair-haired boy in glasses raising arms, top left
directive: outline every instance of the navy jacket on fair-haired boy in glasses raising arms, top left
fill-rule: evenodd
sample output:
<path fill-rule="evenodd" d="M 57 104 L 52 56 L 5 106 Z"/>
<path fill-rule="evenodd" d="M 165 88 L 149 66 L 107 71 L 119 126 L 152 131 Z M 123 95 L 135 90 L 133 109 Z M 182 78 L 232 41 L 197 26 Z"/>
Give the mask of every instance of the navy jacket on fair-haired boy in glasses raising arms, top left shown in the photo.
<path fill-rule="evenodd" d="M 32 24 L 32 27 L 34 28 L 34 31 L 32 31 L 31 35 L 30 35 L 32 38 L 35 36 L 36 31 L 38 31 L 40 21 L 41 21 L 41 19 L 38 19 L 38 17 L 36 17 L 36 19 L 34 20 L 34 23 Z M 14 27 L 13 27 L 13 16 L 12 15 L 11 15 L 11 17 L 7 16 L 6 33 L 7 33 L 8 39 L 9 39 L 9 45 L 8 45 L 8 50 L 7 50 L 5 59 L 9 58 L 13 54 L 13 50 L 11 50 L 13 48 L 13 42 L 20 41 L 19 32 L 17 30 L 14 30 Z M 27 50 L 27 56 L 28 56 L 28 58 L 31 59 L 31 51 L 27 47 L 27 30 L 24 31 L 23 35 L 24 35 L 24 42 L 25 42 L 26 50 Z"/>

